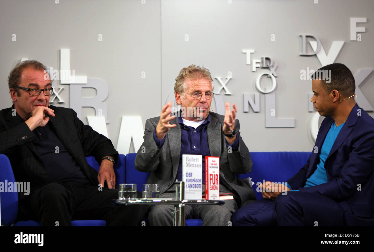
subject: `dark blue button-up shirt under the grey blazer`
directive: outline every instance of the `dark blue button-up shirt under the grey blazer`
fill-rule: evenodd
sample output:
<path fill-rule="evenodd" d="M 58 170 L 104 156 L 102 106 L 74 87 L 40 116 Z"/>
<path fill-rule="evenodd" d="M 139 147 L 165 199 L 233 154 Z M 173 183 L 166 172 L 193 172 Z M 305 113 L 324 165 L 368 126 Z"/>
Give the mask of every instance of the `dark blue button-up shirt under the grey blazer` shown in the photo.
<path fill-rule="evenodd" d="M 177 179 L 182 181 L 182 155 L 183 154 L 193 154 L 193 155 L 202 155 L 202 183 L 205 184 L 205 156 L 210 156 L 209 145 L 208 145 L 208 134 L 207 128 L 210 123 L 210 115 L 205 119 L 205 122 L 196 129 L 187 126 L 183 123 L 182 117 L 178 117 L 178 124 L 182 129 L 181 134 L 181 153 L 179 159 Z M 178 127 L 178 125 L 177 125 Z M 159 140 L 156 136 L 156 129 L 153 131 L 153 138 L 156 142 L 156 145 L 159 149 L 162 147 L 165 142 L 166 136 Z M 226 140 L 225 140 L 226 141 Z M 227 142 L 226 142 L 227 145 Z M 232 151 L 237 151 L 239 147 L 239 138 L 236 137 L 232 145 L 227 145 L 232 147 Z"/>

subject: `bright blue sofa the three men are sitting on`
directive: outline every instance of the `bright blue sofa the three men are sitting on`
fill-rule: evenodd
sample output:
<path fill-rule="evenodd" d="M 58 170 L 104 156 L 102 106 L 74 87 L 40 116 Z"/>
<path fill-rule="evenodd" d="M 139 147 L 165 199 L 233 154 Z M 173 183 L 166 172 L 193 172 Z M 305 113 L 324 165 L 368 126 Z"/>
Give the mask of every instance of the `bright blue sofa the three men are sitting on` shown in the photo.
<path fill-rule="evenodd" d="M 142 185 L 147 182 L 150 173 L 143 173 L 135 169 L 134 160 L 136 153 L 119 155 L 118 163 L 114 166 L 116 184 L 136 183 L 141 191 Z M 301 167 L 306 164 L 310 152 L 251 152 L 253 167 L 251 173 L 239 174 L 240 179 L 251 177 L 257 199 L 262 195 L 257 192 L 257 182 L 270 180 L 273 182 L 285 182 L 294 176 Z M 94 157 L 86 157 L 90 166 L 99 169 L 99 164 Z M 0 154 L 0 181 L 15 182 L 9 159 Z M 1 225 L 12 225 L 18 212 L 18 194 L 16 192 L 1 192 Z M 15 226 L 39 226 L 37 221 L 19 221 Z M 104 226 L 104 220 L 79 220 L 72 221 L 73 226 Z M 187 219 L 186 226 L 201 226 L 201 219 Z"/>

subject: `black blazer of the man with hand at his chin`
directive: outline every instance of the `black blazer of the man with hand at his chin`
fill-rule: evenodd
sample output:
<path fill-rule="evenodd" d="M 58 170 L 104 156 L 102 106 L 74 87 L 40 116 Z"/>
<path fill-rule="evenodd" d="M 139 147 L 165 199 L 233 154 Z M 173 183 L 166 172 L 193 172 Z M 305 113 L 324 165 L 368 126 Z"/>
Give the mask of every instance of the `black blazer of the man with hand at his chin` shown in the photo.
<path fill-rule="evenodd" d="M 95 156 L 98 163 L 105 156 L 113 156 L 117 162 L 118 152 L 112 142 L 102 134 L 83 124 L 73 109 L 50 106 L 55 110 L 55 117 L 50 117 L 49 124 L 64 143 L 67 150 L 77 161 L 92 185 L 98 185 L 97 171 L 87 163 L 86 156 Z M 24 120 L 15 115 L 14 105 L 0 111 L 0 153 L 9 157 L 17 182 L 30 182 L 30 195 L 46 185 L 45 166 L 36 152 L 33 141 L 34 133 Z M 19 198 L 25 197 L 23 193 Z"/>

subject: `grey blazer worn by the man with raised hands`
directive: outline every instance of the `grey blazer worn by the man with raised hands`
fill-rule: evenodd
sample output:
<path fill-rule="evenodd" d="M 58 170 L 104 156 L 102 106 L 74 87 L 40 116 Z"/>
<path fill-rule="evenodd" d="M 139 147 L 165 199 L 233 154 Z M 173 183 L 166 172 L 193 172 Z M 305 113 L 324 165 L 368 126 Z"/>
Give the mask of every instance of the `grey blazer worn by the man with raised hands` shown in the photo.
<path fill-rule="evenodd" d="M 211 156 L 220 157 L 220 184 L 233 192 L 238 207 L 244 206 L 256 199 L 255 192 L 247 180 L 236 177 L 237 173 L 249 173 L 252 169 L 251 155 L 240 137 L 239 121 L 235 121 L 237 136 L 239 137 L 239 149 L 237 152 L 228 153 L 225 136 L 222 132 L 224 116 L 210 112 L 210 124 L 208 124 L 208 145 Z M 170 121 L 177 124 L 166 134 L 166 140 L 161 149 L 153 139 L 154 129 L 157 127 L 160 116 L 147 119 L 145 122 L 144 142 L 135 157 L 135 168 L 138 171 L 151 174 L 147 183 L 160 185 L 160 193 L 168 190 L 177 177 L 181 152 L 181 127 L 178 118 Z"/>

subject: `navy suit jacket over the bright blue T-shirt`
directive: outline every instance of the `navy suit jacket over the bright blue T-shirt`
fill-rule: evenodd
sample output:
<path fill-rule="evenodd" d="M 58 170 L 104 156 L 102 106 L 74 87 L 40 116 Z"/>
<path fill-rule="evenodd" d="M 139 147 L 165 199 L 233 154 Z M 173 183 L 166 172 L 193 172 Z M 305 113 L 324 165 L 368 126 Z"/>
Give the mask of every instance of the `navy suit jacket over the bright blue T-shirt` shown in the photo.
<path fill-rule="evenodd" d="M 374 119 L 355 105 L 325 161 L 327 183 L 304 188 L 319 163 L 319 152 L 334 120 L 326 117 L 307 164 L 287 182 L 292 189 L 337 201 L 346 225 L 374 225 Z"/>

